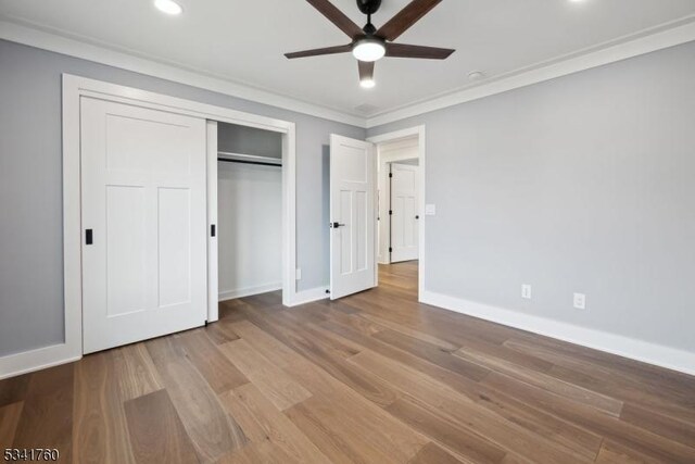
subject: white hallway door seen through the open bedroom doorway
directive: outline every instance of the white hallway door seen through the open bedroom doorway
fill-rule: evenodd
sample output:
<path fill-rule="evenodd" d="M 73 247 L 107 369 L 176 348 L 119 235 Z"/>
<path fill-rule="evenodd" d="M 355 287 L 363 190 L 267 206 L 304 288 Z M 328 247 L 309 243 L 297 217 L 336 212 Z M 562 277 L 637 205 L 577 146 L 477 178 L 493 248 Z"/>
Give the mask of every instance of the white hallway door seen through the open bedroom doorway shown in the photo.
<path fill-rule="evenodd" d="M 419 167 L 391 163 L 391 262 L 418 259 Z"/>

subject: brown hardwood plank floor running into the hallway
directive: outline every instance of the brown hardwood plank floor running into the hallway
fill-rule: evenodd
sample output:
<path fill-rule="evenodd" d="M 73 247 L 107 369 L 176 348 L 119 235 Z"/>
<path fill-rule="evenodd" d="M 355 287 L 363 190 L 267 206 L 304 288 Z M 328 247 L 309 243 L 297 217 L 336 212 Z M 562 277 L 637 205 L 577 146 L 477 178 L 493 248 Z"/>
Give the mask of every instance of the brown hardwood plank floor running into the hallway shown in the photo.
<path fill-rule="evenodd" d="M 695 378 L 377 289 L 0 383 L 0 448 L 75 463 L 695 463 Z"/>

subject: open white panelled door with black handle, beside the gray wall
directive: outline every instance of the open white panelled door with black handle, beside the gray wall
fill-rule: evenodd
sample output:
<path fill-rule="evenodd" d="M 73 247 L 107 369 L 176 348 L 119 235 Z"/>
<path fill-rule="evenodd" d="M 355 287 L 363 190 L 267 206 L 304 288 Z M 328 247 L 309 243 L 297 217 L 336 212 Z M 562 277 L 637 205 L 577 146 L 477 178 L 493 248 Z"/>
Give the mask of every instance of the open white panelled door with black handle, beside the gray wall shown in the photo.
<path fill-rule="evenodd" d="M 377 284 L 375 187 L 374 145 L 331 135 L 331 300 Z"/>

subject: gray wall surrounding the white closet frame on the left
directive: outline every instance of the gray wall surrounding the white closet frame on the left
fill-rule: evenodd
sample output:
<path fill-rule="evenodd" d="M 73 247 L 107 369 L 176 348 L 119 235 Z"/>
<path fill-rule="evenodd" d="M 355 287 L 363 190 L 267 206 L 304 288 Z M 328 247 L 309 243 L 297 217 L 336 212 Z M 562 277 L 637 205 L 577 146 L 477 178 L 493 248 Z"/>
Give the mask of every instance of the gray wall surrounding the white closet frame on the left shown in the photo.
<path fill-rule="evenodd" d="M 0 40 L 0 356 L 64 337 L 61 73 L 296 123 L 298 288 L 328 284 L 326 147 L 364 129 Z"/>

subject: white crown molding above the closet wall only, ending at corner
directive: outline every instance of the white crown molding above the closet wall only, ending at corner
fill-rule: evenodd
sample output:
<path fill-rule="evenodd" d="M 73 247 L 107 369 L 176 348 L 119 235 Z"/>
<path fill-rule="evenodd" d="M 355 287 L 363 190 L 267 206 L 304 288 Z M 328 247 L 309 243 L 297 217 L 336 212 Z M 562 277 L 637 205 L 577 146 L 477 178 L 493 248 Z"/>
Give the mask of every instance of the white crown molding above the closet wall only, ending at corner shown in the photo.
<path fill-rule="evenodd" d="M 117 51 L 102 45 L 88 43 L 86 38 L 73 39 L 67 33 L 49 33 L 40 30 L 37 25 L 22 25 L 12 17 L 0 15 L 0 38 L 30 47 L 89 60 L 94 63 L 118 67 L 121 70 L 146 74 L 161 79 L 212 90 L 218 93 L 268 104 L 283 110 L 309 114 L 339 123 L 365 127 L 365 118 L 349 114 L 340 110 L 327 108 L 316 103 L 305 102 L 295 98 L 282 96 L 273 91 L 258 89 L 250 85 L 239 84 L 229 79 L 205 75 L 188 70 L 184 65 L 164 64 L 153 58 L 140 58 L 132 52 Z"/>

